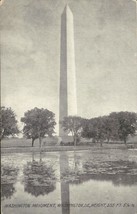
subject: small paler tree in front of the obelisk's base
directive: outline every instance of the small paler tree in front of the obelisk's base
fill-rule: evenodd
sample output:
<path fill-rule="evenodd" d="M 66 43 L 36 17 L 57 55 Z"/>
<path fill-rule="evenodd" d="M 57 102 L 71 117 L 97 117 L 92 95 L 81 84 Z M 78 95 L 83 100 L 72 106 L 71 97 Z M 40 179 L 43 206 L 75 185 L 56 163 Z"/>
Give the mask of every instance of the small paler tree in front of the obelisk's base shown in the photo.
<path fill-rule="evenodd" d="M 82 132 L 82 118 L 78 116 L 64 117 L 61 122 L 64 131 L 71 133 L 74 145 L 76 146 L 78 139 L 81 137 Z"/>

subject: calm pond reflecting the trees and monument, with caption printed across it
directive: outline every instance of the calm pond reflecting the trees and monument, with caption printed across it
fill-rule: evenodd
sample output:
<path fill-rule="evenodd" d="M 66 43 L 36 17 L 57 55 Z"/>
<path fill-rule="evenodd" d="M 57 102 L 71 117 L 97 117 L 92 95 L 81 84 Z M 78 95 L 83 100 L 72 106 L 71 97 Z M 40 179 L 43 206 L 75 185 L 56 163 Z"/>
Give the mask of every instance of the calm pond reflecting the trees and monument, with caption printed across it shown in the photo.
<path fill-rule="evenodd" d="M 4 214 L 137 213 L 137 151 L 15 153 L 1 161 Z"/>

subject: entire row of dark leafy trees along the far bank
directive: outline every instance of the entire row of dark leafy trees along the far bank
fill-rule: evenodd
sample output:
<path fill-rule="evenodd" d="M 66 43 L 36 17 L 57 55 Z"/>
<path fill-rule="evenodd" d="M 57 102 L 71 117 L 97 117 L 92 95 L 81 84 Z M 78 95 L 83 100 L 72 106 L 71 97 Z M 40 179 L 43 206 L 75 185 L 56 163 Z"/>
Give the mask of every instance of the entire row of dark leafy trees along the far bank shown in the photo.
<path fill-rule="evenodd" d="M 16 136 L 20 132 L 27 139 L 34 141 L 55 134 L 55 114 L 44 108 L 33 108 L 24 113 L 21 118 L 23 130 L 19 130 L 16 114 L 11 108 L 0 108 L 0 139 Z M 103 144 L 104 141 L 121 140 L 127 143 L 128 136 L 135 135 L 137 131 L 137 113 L 112 112 L 107 116 L 85 119 L 79 116 L 64 117 L 60 122 L 64 132 L 71 133 L 76 146 L 81 137 L 92 139 L 95 143 Z"/>

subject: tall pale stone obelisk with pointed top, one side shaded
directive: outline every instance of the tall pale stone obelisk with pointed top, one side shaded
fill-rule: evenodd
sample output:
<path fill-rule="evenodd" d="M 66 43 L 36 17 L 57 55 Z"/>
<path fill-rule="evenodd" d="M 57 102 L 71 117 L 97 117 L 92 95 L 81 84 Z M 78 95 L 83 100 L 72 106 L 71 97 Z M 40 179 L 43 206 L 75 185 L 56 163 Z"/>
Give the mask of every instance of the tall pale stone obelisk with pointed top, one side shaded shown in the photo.
<path fill-rule="evenodd" d="M 73 14 L 67 5 L 61 16 L 59 122 L 77 115 Z M 61 124 L 59 136 L 65 136 Z"/>

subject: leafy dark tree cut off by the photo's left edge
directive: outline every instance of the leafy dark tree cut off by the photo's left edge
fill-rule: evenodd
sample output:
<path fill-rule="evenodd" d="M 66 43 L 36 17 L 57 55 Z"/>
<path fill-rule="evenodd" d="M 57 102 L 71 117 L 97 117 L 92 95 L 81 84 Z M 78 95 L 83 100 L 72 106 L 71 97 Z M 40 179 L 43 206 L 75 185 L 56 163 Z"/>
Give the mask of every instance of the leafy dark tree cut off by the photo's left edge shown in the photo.
<path fill-rule="evenodd" d="M 0 108 L 0 139 L 19 133 L 16 115 L 11 108 Z"/>

